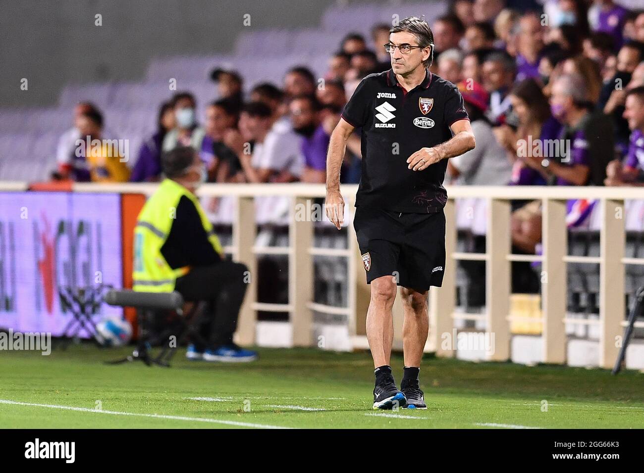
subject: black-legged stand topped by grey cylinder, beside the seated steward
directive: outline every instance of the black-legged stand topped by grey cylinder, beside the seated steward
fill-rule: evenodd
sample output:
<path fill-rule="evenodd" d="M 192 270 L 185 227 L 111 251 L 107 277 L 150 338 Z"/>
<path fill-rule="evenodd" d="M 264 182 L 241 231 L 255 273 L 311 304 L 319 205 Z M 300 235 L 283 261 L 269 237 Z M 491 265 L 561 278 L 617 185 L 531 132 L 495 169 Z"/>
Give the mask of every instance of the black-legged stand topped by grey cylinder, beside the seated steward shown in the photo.
<path fill-rule="evenodd" d="M 131 361 L 142 361 L 147 366 L 156 364 L 158 366 L 170 366 L 170 360 L 175 354 L 176 348 L 184 342 L 187 337 L 192 337 L 195 342 L 205 344 L 199 334 L 198 328 L 201 322 L 205 302 L 198 302 L 184 315 L 184 298 L 178 292 L 156 293 L 156 292 L 135 292 L 132 290 L 111 290 L 105 295 L 105 302 L 111 306 L 133 307 L 137 310 L 138 321 L 138 342 L 137 348 L 126 358 L 108 362 L 109 364 L 120 364 Z M 158 317 L 159 311 L 173 310 L 178 315 L 178 327 L 165 329 L 157 337 L 164 340 L 163 348 L 156 357 L 150 355 L 150 332 L 147 323 Z M 167 341 L 171 335 L 176 336 L 175 343 Z"/>

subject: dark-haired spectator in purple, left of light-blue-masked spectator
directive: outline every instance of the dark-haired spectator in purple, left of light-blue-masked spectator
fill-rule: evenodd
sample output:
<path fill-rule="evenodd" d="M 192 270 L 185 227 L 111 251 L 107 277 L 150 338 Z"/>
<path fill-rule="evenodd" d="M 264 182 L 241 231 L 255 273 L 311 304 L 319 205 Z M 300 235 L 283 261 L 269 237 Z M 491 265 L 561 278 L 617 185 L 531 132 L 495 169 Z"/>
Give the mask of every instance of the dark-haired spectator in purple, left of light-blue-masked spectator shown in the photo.
<path fill-rule="evenodd" d="M 156 126 L 156 133 L 138 151 L 137 163 L 129 178 L 132 182 L 158 181 L 161 176 L 161 145 L 167 131 L 175 127 L 175 111 L 170 102 L 161 105 Z"/>

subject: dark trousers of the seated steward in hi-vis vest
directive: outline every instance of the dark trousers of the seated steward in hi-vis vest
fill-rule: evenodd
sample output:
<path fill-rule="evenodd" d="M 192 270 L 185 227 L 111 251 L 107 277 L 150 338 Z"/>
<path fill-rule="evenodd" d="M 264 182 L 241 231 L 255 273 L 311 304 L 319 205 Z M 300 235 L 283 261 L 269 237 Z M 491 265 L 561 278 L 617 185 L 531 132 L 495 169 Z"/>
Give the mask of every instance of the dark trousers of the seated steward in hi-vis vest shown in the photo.
<path fill-rule="evenodd" d="M 210 302 L 201 333 L 211 349 L 232 343 L 248 286 L 247 271 L 243 263 L 224 260 L 210 266 L 196 266 L 176 279 L 175 289 L 185 301 Z"/>

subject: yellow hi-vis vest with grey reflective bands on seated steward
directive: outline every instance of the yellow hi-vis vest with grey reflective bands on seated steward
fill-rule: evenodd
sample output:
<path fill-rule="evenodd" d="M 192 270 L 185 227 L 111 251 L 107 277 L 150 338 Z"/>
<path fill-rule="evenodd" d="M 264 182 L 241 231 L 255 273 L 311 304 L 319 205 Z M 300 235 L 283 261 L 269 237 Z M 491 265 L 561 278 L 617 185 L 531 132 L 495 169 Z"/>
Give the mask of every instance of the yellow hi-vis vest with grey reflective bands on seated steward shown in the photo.
<path fill-rule="evenodd" d="M 166 179 L 146 201 L 138 214 L 134 229 L 134 268 L 132 288 L 141 292 L 172 292 L 176 278 L 189 272 L 189 266 L 173 269 L 161 254 L 172 223 L 176 218 L 176 206 L 186 196 L 199 212 L 202 225 L 214 250 L 222 255 L 222 245 L 214 233 L 213 225 L 205 215 L 196 196 L 179 183 Z"/>

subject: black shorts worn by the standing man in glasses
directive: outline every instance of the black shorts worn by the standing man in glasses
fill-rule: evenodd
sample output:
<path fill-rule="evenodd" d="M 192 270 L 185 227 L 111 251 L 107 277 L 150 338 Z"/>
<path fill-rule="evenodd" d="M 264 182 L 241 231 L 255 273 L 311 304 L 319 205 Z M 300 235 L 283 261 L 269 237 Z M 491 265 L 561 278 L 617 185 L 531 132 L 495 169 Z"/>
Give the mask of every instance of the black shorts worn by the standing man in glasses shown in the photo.
<path fill-rule="evenodd" d="M 425 292 L 442 285 L 445 270 L 445 214 L 394 212 L 356 207 L 355 234 L 366 282 L 392 275 L 397 286 Z"/>

